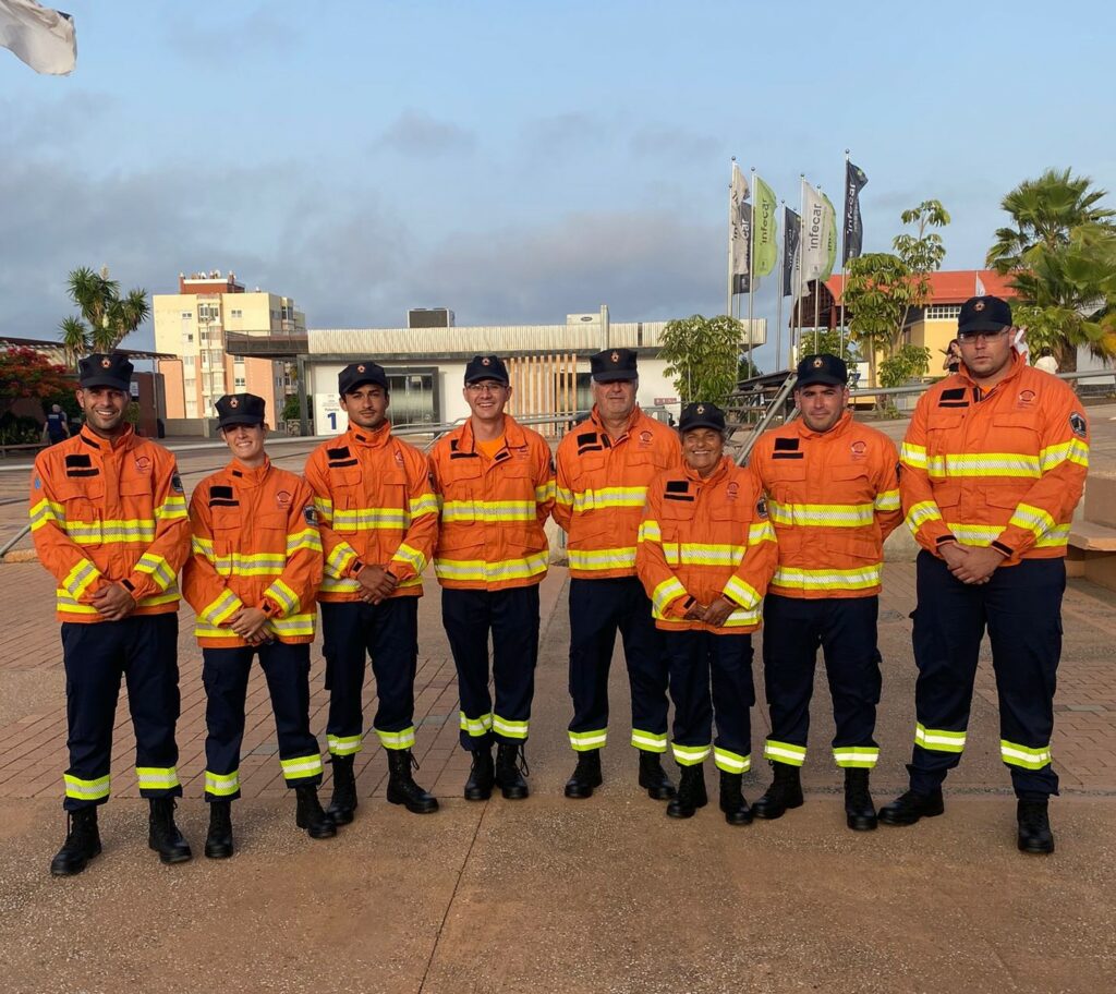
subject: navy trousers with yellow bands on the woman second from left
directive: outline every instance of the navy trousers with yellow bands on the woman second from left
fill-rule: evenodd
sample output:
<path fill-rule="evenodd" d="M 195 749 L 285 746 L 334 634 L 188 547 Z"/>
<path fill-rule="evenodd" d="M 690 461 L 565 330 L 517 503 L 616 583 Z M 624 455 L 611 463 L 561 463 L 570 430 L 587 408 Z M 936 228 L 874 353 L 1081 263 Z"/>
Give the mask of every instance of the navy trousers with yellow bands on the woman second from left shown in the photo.
<path fill-rule="evenodd" d="M 240 745 L 252 657 L 268 682 L 287 786 L 321 782 L 318 740 L 310 734 L 310 647 L 281 641 L 202 649 L 205 686 L 205 800 L 240 797 Z"/>

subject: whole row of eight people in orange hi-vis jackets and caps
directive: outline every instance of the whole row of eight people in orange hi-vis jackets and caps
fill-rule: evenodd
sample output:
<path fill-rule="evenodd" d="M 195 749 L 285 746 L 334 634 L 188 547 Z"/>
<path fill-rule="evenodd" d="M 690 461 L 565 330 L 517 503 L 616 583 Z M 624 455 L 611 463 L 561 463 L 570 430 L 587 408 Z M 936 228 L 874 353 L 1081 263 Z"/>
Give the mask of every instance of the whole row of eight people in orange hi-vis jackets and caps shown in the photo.
<path fill-rule="evenodd" d="M 965 745 L 987 629 L 1018 845 L 1051 852 L 1064 558 L 1088 465 L 1088 425 L 1072 390 L 1013 348 L 1012 330 L 1004 301 L 964 305 L 959 370 L 920 399 L 898 453 L 883 433 L 854 421 L 844 361 L 807 356 L 795 387 L 800 417 L 762 435 L 747 467 L 724 454 L 725 417 L 714 404 L 685 406 L 677 432 L 644 414 L 636 354 L 627 349 L 591 357 L 593 411 L 554 460 L 548 443 L 508 414 L 512 388 L 497 356 L 468 364 L 471 415 L 429 457 L 392 434 L 384 369 L 354 363 L 338 382 L 348 430 L 312 452 L 304 476 L 270 462 L 261 398 L 222 397 L 219 424 L 232 459 L 198 484 L 189 506 L 174 457 L 124 418 L 131 364 L 118 354 L 83 359 L 81 430 L 42 452 L 31 480 L 36 547 L 58 581 L 69 732 L 69 821 L 51 872 L 78 874 L 100 852 L 97 808 L 110 793 L 122 677 L 140 792 L 150 800 L 150 845 L 167 863 L 191 858 L 174 821 L 182 795 L 174 734 L 180 572 L 203 656 L 208 857 L 234 850 L 231 803 L 240 795 L 257 657 L 299 828 L 329 838 L 355 817 L 367 659 L 387 800 L 416 813 L 437 810 L 414 780 L 412 755 L 417 598 L 431 561 L 458 670 L 461 745 L 472 759 L 464 797 L 485 800 L 499 788 L 507 799 L 526 798 L 550 515 L 569 551 L 577 764 L 567 797 L 588 798 L 603 782 L 618 629 L 638 783 L 667 802 L 671 817 L 690 818 L 708 803 L 710 754 L 730 824 L 777 819 L 804 803 L 799 773 L 819 647 L 848 827 L 941 814 L 942 783 Z M 922 547 L 913 615 L 917 724 L 910 790 L 877 811 L 869 774 L 879 753 L 883 543 L 904 521 Z M 327 808 L 309 726 L 318 606 L 329 692 Z M 741 781 L 751 766 L 756 703 L 751 633 L 761 620 L 771 723 L 763 757 L 772 779 L 749 804 Z M 668 746 L 677 786 L 662 763 Z"/>

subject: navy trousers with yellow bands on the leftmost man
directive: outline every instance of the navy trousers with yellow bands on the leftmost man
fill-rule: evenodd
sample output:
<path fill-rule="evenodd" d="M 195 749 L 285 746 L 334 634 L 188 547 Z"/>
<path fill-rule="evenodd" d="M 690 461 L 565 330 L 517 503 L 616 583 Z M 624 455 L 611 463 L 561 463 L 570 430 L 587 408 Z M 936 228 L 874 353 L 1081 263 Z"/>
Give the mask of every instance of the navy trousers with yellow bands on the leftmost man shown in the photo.
<path fill-rule="evenodd" d="M 144 798 L 182 797 L 179 747 L 179 616 L 142 615 L 93 625 L 62 623 L 69 769 L 67 811 L 109 795 L 113 725 L 121 678 L 136 736 L 136 776 Z"/>

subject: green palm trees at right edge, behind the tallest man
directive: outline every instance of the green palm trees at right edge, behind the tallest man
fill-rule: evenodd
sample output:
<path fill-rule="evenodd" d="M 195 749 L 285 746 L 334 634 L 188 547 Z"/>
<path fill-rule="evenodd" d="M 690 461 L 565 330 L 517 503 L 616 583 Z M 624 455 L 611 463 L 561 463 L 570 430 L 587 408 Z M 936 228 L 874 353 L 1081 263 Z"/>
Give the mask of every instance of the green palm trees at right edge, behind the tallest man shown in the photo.
<path fill-rule="evenodd" d="M 988 250 L 988 264 L 1013 277 L 1016 324 L 1064 371 L 1077 369 L 1081 345 L 1116 358 L 1116 211 L 1100 206 L 1106 195 L 1068 168 L 1024 180 L 1000 204 L 1013 226 Z"/>

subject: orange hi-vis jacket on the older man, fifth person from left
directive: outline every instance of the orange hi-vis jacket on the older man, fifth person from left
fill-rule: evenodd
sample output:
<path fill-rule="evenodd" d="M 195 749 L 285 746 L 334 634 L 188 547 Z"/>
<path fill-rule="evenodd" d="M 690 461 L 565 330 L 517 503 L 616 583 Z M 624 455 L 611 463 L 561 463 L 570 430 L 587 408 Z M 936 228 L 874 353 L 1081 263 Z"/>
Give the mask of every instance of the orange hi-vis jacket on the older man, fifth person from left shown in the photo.
<path fill-rule="evenodd" d="M 580 580 L 634 577 L 636 537 L 647 484 L 682 465 L 673 428 L 632 412 L 609 438 L 597 408 L 558 445 L 554 517 L 569 535 L 569 575 Z"/>

